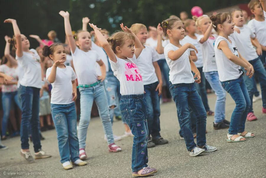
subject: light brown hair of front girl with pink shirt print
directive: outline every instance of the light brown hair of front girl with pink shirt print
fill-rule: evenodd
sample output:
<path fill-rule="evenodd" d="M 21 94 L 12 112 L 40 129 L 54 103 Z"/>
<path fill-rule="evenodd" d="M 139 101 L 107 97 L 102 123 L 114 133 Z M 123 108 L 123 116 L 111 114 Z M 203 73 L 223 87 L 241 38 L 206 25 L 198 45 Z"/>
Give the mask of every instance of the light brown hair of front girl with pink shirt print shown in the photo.
<path fill-rule="evenodd" d="M 118 31 L 113 33 L 108 39 L 108 43 L 111 46 L 113 52 L 116 54 L 116 46 L 122 47 L 125 44 L 127 39 L 132 39 L 135 41 L 135 37 L 131 33 L 127 33 L 124 31 Z"/>

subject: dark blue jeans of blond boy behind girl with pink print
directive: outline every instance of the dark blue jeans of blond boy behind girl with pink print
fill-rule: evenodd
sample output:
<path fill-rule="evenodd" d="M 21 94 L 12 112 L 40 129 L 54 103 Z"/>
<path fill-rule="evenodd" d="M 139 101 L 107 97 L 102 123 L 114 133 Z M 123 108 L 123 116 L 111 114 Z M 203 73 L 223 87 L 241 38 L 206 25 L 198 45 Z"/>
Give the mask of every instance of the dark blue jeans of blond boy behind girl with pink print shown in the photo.
<path fill-rule="evenodd" d="M 160 97 L 158 96 L 159 91 L 155 91 L 159 82 L 153 84 L 144 85 L 144 94 L 146 100 L 146 107 L 148 112 L 148 130 L 149 138 L 150 136 L 153 139 L 159 138 L 160 136 Z"/>

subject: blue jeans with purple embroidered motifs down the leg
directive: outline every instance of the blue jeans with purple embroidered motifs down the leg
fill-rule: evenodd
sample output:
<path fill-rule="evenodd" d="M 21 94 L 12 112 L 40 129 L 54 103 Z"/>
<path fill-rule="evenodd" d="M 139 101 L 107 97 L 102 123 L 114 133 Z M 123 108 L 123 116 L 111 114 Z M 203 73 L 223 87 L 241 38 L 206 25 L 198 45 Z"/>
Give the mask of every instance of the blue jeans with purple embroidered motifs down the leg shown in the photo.
<path fill-rule="evenodd" d="M 148 124 L 144 94 L 122 95 L 120 109 L 133 137 L 132 171 L 147 167 L 148 163 Z"/>

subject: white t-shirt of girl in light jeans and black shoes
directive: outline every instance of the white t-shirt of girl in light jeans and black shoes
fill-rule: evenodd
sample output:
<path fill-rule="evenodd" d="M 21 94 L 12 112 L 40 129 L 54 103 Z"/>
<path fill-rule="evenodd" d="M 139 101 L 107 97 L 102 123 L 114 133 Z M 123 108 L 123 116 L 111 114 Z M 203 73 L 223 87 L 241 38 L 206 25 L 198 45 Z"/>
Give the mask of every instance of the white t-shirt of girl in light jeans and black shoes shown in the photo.
<path fill-rule="evenodd" d="M 217 64 L 215 59 L 214 52 L 214 43 L 217 35 L 213 34 L 214 38 L 208 38 L 204 43 L 200 43 L 203 35 L 198 36 L 198 43 L 200 44 L 202 50 L 202 59 L 203 59 L 203 72 L 212 72 L 217 71 Z"/>

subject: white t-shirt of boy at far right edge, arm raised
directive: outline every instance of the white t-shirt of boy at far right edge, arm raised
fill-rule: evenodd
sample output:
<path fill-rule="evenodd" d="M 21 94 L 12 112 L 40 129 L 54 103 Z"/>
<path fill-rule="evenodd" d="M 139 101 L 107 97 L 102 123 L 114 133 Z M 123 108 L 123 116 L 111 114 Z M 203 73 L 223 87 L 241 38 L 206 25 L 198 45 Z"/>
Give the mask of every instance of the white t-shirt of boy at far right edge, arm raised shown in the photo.
<path fill-rule="evenodd" d="M 264 17 L 266 17 L 266 12 L 263 11 Z M 257 21 L 252 19 L 247 24 L 249 28 L 251 28 L 252 32 L 255 33 L 258 41 L 263 46 L 266 46 L 266 20 Z"/>

